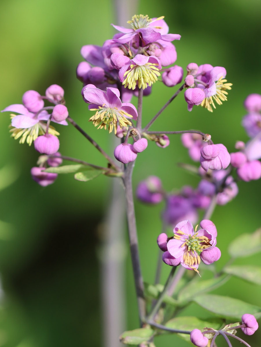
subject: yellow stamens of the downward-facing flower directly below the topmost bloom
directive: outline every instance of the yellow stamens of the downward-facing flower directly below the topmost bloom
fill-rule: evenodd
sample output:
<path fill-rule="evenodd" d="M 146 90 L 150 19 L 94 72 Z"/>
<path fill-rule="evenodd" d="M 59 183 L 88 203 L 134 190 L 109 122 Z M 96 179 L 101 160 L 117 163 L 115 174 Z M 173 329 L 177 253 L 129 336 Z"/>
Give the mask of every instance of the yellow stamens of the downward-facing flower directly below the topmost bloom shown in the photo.
<path fill-rule="evenodd" d="M 159 69 L 156 67 L 158 64 L 147 62 L 145 65 L 130 65 L 130 70 L 126 71 L 123 77 L 125 77 L 122 84 L 124 88 L 134 90 L 137 82 L 139 88 L 147 88 L 158 80 L 157 76 L 160 76 Z"/>

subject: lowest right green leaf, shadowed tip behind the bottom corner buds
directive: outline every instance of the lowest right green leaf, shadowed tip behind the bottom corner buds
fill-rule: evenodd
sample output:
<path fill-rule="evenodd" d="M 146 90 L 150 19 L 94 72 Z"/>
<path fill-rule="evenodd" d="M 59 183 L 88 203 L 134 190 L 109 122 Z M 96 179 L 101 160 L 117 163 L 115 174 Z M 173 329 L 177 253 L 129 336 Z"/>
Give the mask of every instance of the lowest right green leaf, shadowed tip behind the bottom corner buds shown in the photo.
<path fill-rule="evenodd" d="M 193 329 L 199 329 L 202 330 L 205 327 L 207 328 L 213 328 L 218 330 L 223 324 L 223 321 L 218 318 L 210 318 L 206 320 L 201 320 L 196 317 L 176 317 L 168 321 L 165 326 L 172 329 L 178 329 L 178 330 L 187 330 L 191 331 Z M 189 334 L 177 334 L 182 340 L 185 340 L 187 342 L 190 342 L 190 335 Z M 193 345 L 194 346 L 194 345 Z"/>

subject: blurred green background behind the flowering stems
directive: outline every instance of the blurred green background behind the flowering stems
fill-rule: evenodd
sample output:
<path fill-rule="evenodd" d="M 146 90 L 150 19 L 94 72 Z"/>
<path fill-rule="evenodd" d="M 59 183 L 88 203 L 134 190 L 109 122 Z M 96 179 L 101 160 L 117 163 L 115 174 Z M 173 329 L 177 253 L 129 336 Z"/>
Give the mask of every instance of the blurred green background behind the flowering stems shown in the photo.
<path fill-rule="evenodd" d="M 113 2 L 109 0 L 2 0 L 0 2 L 0 109 L 21 103 L 27 90 L 42 95 L 51 84 L 65 90 L 69 113 L 96 141 L 112 154 L 111 136 L 88 122 L 91 113 L 81 97 L 81 82 L 75 78 L 85 44 L 102 45 L 115 33 Z M 140 0 L 137 14 L 165 15 L 170 33 L 181 34 L 176 41 L 176 64 L 209 63 L 227 69 L 233 83 L 228 101 L 211 114 L 201 107 L 187 111 L 180 95 L 150 130 L 199 129 L 210 133 L 215 143 L 234 150 L 237 140 L 247 141 L 240 125 L 245 111 L 243 101 L 250 93 L 261 93 L 259 0 Z M 131 14 L 132 15 L 132 14 Z M 176 87 L 161 82 L 144 100 L 144 125 L 170 98 Z M 137 99 L 133 99 L 137 104 Z M 109 204 L 111 179 L 98 177 L 83 183 L 73 175 L 60 175 L 52 186 L 42 188 L 30 176 L 38 154 L 33 146 L 10 138 L 8 113 L 0 118 L 0 273 L 2 309 L 0 346 L 83 347 L 101 346 L 100 262 L 103 214 Z M 71 126 L 57 126 L 60 152 L 97 165 L 105 160 Z M 139 154 L 134 170 L 134 186 L 148 175 L 159 176 L 167 190 L 182 185 L 196 187 L 198 178 L 177 168 L 189 162 L 180 136 L 171 137 L 166 149 L 149 144 Z M 6 178 L 4 178 L 6 177 Z M 11 184 L 13 182 L 13 184 Z M 218 206 L 212 220 L 218 228 L 221 268 L 228 259 L 227 246 L 240 233 L 261 226 L 260 181 L 240 182 L 237 198 Z M 156 237 L 161 232 L 158 216 L 163 205 L 148 207 L 136 201 L 141 264 L 146 282 L 153 282 L 157 260 Z M 127 238 L 127 237 L 126 237 Z M 251 240 L 250 240 L 251 242 Z M 238 260 L 237 264 L 259 264 L 260 254 Z M 132 270 L 126 246 L 126 329 L 138 327 Z M 169 267 L 163 267 L 162 281 Z M 243 299 L 261 306 L 260 287 L 234 279 L 213 293 Z M 204 318 L 196 305 L 192 314 Z M 252 347 L 260 346 L 260 335 L 248 337 Z M 161 346 L 187 346 L 175 336 L 156 340 Z M 218 346 L 223 346 L 221 338 Z M 233 341 L 233 346 L 237 343 Z M 238 343 L 239 346 L 239 343 Z"/>

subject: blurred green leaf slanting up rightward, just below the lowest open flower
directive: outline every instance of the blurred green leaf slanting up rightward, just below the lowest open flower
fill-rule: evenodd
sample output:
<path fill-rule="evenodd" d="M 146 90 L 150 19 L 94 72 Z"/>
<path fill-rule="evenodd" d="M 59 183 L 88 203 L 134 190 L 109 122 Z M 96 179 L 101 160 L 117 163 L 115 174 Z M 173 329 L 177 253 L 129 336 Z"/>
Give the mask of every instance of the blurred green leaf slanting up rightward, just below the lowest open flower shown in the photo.
<path fill-rule="evenodd" d="M 224 283 L 227 282 L 229 276 L 223 275 L 217 278 L 212 278 L 209 280 L 196 279 L 196 281 L 191 281 L 188 285 L 180 291 L 178 296 L 178 303 L 180 305 L 185 305 L 189 301 L 192 301 L 196 295 L 207 293 L 208 291 L 214 290 Z"/>

